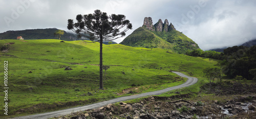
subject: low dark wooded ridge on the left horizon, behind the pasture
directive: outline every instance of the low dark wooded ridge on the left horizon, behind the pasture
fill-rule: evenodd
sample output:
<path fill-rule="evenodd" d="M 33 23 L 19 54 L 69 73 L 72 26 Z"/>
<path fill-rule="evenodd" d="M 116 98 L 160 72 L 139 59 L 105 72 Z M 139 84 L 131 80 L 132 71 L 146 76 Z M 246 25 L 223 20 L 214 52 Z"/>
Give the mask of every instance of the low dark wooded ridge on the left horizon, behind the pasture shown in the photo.
<path fill-rule="evenodd" d="M 26 29 L 22 31 L 7 31 L 0 33 L 1 40 L 4 39 L 16 39 L 18 36 L 22 36 L 25 40 L 36 40 L 36 39 L 58 39 L 54 37 L 54 32 L 57 28 L 45 28 L 45 29 Z M 61 36 L 60 40 L 64 41 L 75 41 L 79 40 L 77 35 L 74 33 L 69 33 L 64 31 L 64 35 Z M 87 38 L 82 38 L 83 40 L 88 40 Z M 108 44 L 108 41 L 104 41 L 104 44 Z M 117 44 L 112 41 L 112 44 Z"/>

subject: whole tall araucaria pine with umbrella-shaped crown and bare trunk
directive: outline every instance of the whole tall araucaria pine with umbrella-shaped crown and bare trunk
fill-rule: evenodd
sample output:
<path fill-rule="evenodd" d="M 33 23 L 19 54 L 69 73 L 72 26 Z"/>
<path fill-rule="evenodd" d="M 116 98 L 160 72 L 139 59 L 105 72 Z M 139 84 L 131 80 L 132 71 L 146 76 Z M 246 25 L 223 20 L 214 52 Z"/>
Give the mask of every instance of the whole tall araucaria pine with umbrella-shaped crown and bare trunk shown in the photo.
<path fill-rule="evenodd" d="M 93 14 L 88 15 L 79 14 L 76 16 L 76 20 L 76 23 L 73 19 L 68 20 L 68 29 L 78 34 L 78 37 L 87 37 L 91 41 L 100 43 L 99 88 L 103 90 L 103 41 L 112 41 L 125 36 L 125 32 L 132 29 L 132 24 L 125 19 L 124 15 L 112 14 L 108 16 L 100 10 L 95 10 Z"/>

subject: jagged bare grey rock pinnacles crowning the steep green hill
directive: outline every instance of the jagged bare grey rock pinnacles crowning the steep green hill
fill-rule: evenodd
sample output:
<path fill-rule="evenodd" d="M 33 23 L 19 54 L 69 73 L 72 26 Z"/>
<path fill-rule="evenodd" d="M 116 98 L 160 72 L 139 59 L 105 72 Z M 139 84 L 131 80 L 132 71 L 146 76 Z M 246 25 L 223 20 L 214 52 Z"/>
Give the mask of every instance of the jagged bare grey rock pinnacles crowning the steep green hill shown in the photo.
<path fill-rule="evenodd" d="M 158 22 L 153 25 L 153 21 L 151 17 L 145 17 L 142 26 L 146 27 L 147 29 L 150 29 L 151 31 L 156 31 L 156 32 L 169 32 L 172 29 L 175 29 L 172 23 L 170 23 L 169 25 L 169 22 L 167 19 L 164 20 L 164 23 L 162 22 L 162 19 L 159 19 Z"/>

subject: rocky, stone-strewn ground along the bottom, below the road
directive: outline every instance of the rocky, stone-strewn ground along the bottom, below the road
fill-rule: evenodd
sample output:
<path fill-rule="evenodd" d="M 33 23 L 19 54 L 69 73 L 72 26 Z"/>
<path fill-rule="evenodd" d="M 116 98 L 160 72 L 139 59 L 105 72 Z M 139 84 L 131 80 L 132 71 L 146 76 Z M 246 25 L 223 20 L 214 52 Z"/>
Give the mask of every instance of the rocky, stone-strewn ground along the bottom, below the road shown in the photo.
<path fill-rule="evenodd" d="M 170 99 L 161 101 L 162 99 Z M 244 99 L 250 99 L 251 103 L 245 103 Z M 83 113 L 73 113 L 70 116 L 58 117 L 84 119 L 84 118 L 127 118 L 127 119 L 170 119 L 170 118 L 225 118 L 246 112 L 254 111 L 256 107 L 256 95 L 248 95 L 237 97 L 227 101 L 225 104 L 218 100 L 212 102 L 189 102 L 185 100 L 171 101 L 172 97 L 148 97 L 140 103 L 127 104 L 120 102 L 119 104 L 108 104 L 98 109 L 86 110 Z M 245 108 L 246 107 L 246 108 Z M 74 116 L 75 115 L 75 116 Z"/>

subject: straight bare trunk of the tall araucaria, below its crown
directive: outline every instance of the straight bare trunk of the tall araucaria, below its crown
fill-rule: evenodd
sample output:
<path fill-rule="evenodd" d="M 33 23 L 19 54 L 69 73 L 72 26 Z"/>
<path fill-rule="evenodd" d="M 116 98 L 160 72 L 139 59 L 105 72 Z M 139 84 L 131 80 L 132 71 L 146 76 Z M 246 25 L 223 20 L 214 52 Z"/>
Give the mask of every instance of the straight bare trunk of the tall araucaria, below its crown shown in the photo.
<path fill-rule="evenodd" d="M 103 58 L 102 58 L 102 44 L 103 44 L 103 37 L 100 35 L 100 50 L 99 50 L 99 89 L 103 90 Z"/>

